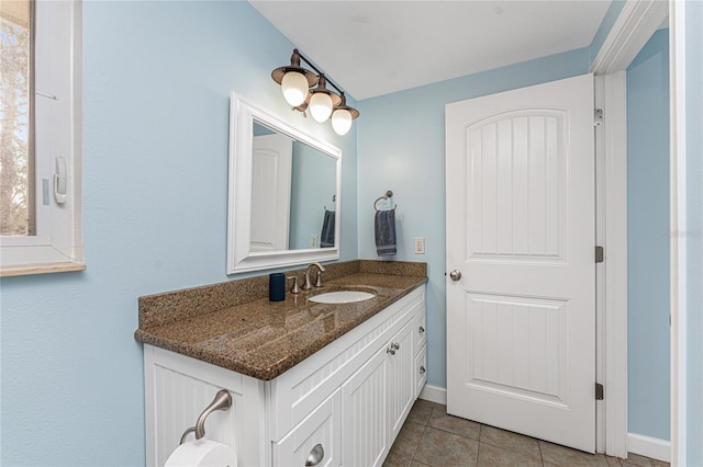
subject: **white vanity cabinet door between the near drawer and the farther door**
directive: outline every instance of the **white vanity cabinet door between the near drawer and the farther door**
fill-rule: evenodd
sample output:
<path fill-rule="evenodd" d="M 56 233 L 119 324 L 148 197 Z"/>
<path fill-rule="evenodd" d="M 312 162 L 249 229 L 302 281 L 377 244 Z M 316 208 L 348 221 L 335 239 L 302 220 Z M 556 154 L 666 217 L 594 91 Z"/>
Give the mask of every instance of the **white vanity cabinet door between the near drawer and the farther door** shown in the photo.
<path fill-rule="evenodd" d="M 389 363 L 383 348 L 342 386 L 345 466 L 380 466 L 390 449 Z"/>

